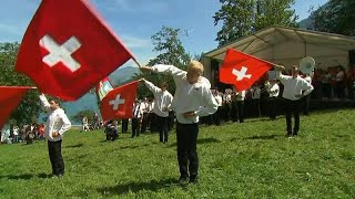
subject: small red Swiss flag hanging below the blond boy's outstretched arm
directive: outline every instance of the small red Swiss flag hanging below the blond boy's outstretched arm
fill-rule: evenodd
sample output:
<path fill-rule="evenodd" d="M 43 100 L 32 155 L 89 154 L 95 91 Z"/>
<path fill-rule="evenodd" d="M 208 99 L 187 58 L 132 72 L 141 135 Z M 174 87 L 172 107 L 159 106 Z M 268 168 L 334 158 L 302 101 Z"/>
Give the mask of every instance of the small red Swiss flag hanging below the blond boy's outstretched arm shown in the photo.
<path fill-rule="evenodd" d="M 132 118 L 138 85 L 135 81 L 110 91 L 100 104 L 102 119 Z"/>

